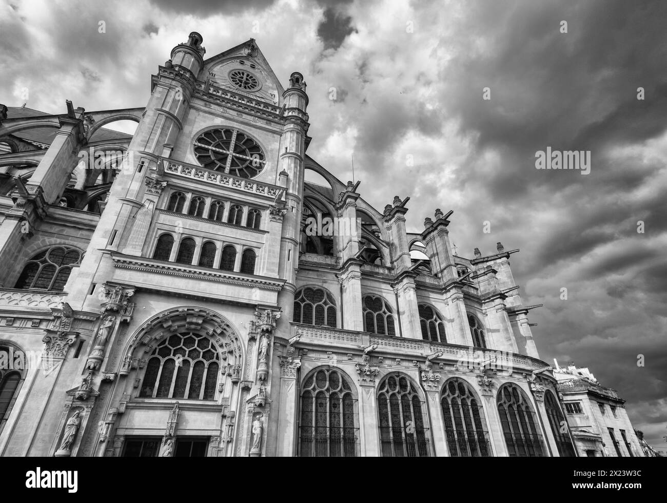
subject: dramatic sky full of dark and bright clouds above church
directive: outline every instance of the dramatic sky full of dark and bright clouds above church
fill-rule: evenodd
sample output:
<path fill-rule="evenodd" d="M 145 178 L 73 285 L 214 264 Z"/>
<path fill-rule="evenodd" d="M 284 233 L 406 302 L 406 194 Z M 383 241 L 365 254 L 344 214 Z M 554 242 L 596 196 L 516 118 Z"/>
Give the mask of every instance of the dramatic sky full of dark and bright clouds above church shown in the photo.
<path fill-rule="evenodd" d="M 381 209 L 410 195 L 411 231 L 453 209 L 462 256 L 520 248 L 542 359 L 588 366 L 664 446 L 665 19 L 662 0 L 2 0 L 0 103 L 143 106 L 190 31 L 207 57 L 255 38 L 283 84 L 305 75 L 311 157 L 347 180 L 354 155 Z M 590 151 L 590 173 L 536 169 L 546 147 Z"/>

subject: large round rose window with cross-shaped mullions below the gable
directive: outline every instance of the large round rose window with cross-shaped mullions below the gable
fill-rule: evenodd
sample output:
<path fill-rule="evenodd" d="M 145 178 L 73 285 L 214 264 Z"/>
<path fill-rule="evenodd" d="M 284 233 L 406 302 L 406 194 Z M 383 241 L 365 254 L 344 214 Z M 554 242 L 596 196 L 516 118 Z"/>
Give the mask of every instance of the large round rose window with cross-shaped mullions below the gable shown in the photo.
<path fill-rule="evenodd" d="M 264 153 L 255 140 L 236 129 L 209 129 L 195 139 L 195 157 L 206 169 L 253 178 L 264 169 Z"/>

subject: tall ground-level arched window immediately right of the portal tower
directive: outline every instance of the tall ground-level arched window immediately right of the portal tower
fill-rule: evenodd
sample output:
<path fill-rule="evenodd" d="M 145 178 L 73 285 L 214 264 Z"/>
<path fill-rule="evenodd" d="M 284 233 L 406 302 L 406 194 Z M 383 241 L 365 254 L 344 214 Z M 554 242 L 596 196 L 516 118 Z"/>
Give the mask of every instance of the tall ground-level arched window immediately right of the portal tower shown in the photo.
<path fill-rule="evenodd" d="M 320 369 L 303 382 L 299 456 L 357 456 L 359 418 L 350 380 Z"/>

